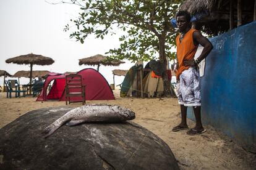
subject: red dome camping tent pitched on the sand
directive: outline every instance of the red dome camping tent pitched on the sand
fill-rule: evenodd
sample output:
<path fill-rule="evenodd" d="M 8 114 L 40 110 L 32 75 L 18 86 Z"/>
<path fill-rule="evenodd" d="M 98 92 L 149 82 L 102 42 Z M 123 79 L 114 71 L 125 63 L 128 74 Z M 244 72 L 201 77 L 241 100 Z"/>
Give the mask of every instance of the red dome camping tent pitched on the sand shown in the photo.
<path fill-rule="evenodd" d="M 82 75 L 82 82 L 85 84 L 86 100 L 114 100 L 113 91 L 111 90 L 106 79 L 93 68 L 85 68 L 77 72 Z M 67 74 L 49 73 L 45 79 L 44 87 L 36 101 L 46 101 L 48 99 L 66 100 L 65 97 L 65 76 Z M 53 82 L 51 90 L 47 94 L 49 83 Z M 74 97 L 72 100 L 81 100 L 80 97 Z"/>

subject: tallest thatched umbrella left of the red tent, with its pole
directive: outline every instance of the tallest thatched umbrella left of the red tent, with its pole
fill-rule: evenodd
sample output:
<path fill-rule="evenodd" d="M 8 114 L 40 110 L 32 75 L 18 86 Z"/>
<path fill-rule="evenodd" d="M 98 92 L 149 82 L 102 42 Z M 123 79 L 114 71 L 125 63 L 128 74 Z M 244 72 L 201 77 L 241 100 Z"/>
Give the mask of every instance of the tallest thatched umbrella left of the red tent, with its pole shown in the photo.
<path fill-rule="evenodd" d="M 17 64 L 28 64 L 30 65 L 30 94 L 31 94 L 31 87 L 32 87 L 32 70 L 33 65 L 51 65 L 54 63 L 54 60 L 49 57 L 44 57 L 42 55 L 36 54 L 27 54 L 27 55 L 20 55 L 18 57 L 14 57 L 11 59 L 7 59 L 6 63 L 17 63 Z"/>

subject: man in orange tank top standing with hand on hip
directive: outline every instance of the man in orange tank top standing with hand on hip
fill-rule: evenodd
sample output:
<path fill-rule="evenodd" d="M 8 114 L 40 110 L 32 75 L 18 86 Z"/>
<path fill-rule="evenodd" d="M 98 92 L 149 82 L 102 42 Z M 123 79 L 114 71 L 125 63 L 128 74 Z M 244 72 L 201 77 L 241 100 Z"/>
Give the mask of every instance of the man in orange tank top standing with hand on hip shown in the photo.
<path fill-rule="evenodd" d="M 177 95 L 181 105 L 181 123 L 173 131 L 187 129 L 187 107 L 193 107 L 195 127 L 187 131 L 188 135 L 202 134 L 206 130 L 201 121 L 200 75 L 198 64 L 207 57 L 213 46 L 207 38 L 191 28 L 190 14 L 179 11 L 176 14 L 177 27 L 181 34 L 176 38 L 177 62 Z M 202 54 L 194 60 L 198 44 L 203 46 Z"/>

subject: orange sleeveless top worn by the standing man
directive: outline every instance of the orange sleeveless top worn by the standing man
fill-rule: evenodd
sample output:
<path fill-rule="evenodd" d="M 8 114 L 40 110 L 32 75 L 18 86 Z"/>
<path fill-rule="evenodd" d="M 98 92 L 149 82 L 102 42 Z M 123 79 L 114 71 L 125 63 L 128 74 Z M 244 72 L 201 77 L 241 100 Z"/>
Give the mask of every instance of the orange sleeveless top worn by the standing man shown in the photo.
<path fill-rule="evenodd" d="M 176 73 L 176 78 L 179 79 L 179 75 L 181 75 L 182 71 L 189 69 L 189 66 L 184 66 L 184 60 L 194 59 L 195 52 L 197 51 L 197 47 L 194 45 L 193 41 L 193 33 L 197 31 L 195 29 L 190 29 L 184 35 L 183 39 L 180 41 L 181 34 L 179 34 L 176 38 L 176 46 L 177 46 L 177 60 L 179 63 L 179 68 Z"/>

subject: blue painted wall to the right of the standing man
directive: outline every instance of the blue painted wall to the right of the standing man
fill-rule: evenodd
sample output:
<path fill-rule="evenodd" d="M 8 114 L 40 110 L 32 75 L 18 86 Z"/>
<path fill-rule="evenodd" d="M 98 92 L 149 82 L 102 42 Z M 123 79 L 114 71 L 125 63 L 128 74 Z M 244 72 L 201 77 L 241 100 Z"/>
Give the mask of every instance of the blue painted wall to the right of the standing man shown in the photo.
<path fill-rule="evenodd" d="M 201 78 L 203 123 L 256 152 L 256 22 L 210 41 Z M 194 119 L 191 108 L 188 116 Z"/>

